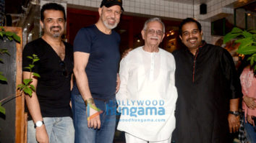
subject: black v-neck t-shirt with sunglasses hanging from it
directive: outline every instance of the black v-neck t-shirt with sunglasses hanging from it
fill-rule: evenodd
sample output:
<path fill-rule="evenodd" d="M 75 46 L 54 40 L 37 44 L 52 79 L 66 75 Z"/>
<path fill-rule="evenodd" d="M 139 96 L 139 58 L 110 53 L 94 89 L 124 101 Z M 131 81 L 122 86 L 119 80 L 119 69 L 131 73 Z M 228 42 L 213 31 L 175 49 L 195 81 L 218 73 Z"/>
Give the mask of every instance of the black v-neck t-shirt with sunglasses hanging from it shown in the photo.
<path fill-rule="evenodd" d="M 64 61 L 56 54 L 54 49 L 46 41 L 39 38 L 25 45 L 22 54 L 23 71 L 29 71 L 25 67 L 32 60 L 27 56 L 38 55 L 33 73 L 38 73 L 38 85 L 36 94 L 43 117 L 72 116 L 70 101 L 70 79 L 73 69 L 72 45 L 64 42 Z M 29 119 L 31 117 L 29 116 Z"/>

